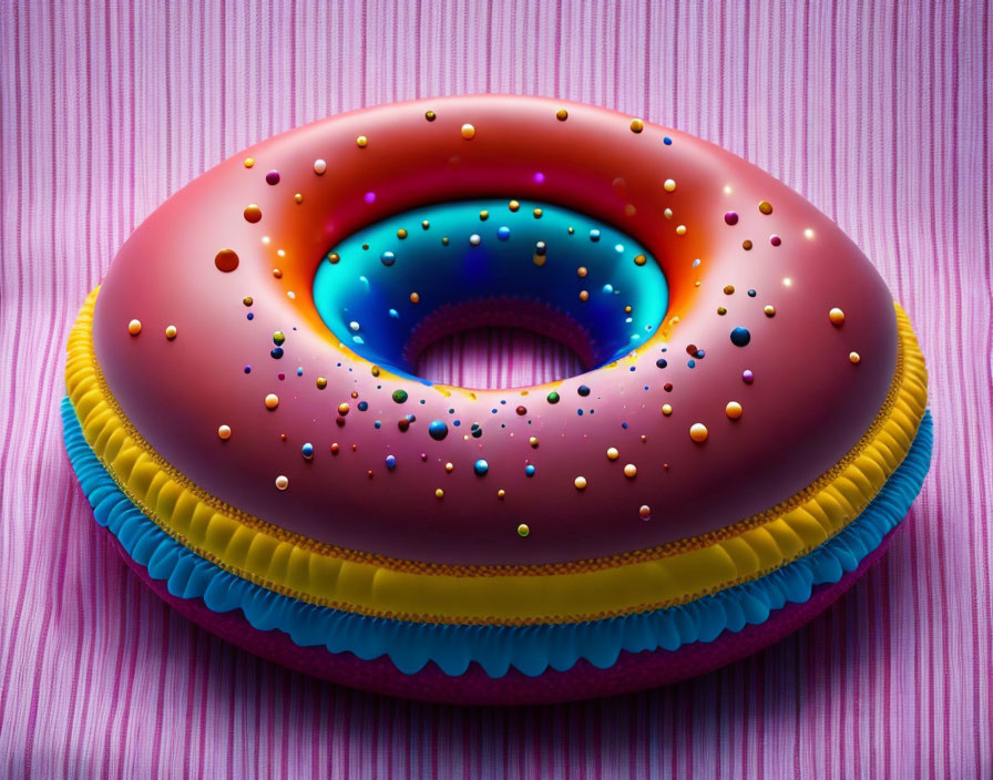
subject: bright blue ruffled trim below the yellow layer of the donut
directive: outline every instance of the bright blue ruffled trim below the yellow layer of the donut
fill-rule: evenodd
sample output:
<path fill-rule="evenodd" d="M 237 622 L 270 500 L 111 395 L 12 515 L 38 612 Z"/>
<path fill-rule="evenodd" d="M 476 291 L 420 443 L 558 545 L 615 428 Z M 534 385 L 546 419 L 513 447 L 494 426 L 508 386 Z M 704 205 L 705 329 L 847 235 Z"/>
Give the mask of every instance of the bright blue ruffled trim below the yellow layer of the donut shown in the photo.
<path fill-rule="evenodd" d="M 833 584 L 907 514 L 931 462 L 932 422 L 925 412 L 913 443 L 866 510 L 833 538 L 771 574 L 679 606 L 581 623 L 525 626 L 414 623 L 308 604 L 231 574 L 170 537 L 117 488 L 83 437 L 69 398 L 62 400 L 65 449 L 96 522 L 108 528 L 153 579 L 180 598 L 203 598 L 208 609 L 240 609 L 258 630 L 278 629 L 301 647 L 324 646 L 364 660 L 389 656 L 412 675 L 429 661 L 444 674 L 464 674 L 477 661 L 492 678 L 511 666 L 536 677 L 570 669 L 584 658 L 606 669 L 621 650 L 676 650 L 764 623 L 787 603 L 801 604 L 816 585 Z"/>

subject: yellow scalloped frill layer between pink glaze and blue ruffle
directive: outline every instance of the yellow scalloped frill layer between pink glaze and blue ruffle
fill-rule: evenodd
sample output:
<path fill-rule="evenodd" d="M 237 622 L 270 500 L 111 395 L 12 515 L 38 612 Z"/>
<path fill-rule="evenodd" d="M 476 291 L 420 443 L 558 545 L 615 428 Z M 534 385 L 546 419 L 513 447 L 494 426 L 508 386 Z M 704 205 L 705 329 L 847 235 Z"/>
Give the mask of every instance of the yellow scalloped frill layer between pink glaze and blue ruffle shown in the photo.
<path fill-rule="evenodd" d="M 928 401 L 924 359 L 897 308 L 897 370 L 862 440 L 806 490 L 720 532 L 546 566 L 441 566 L 324 545 L 204 493 L 149 447 L 110 393 L 92 343 L 98 289 L 66 348 L 83 435 L 127 497 L 170 536 L 270 591 L 364 615 L 431 623 L 569 623 L 659 609 L 758 578 L 854 520 L 907 455 Z"/>

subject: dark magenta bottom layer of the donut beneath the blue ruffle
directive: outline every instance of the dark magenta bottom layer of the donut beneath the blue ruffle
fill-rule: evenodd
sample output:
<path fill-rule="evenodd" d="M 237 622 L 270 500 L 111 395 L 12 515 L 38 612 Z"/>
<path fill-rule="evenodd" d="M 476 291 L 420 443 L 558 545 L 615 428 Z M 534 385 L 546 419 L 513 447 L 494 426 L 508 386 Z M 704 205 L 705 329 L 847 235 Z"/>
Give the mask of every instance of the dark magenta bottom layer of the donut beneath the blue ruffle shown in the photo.
<path fill-rule="evenodd" d="M 180 614 L 267 660 L 331 682 L 388 696 L 460 705 L 533 705 L 613 696 L 667 685 L 712 671 L 768 647 L 808 623 L 848 591 L 879 560 L 901 525 L 888 533 L 854 572 L 843 575 L 833 585 L 815 587 L 807 602 L 777 609 L 760 625 L 746 626 L 737 634 L 725 632 L 714 642 L 684 645 L 675 651 L 625 650 L 608 669 L 597 669 L 588 661 L 580 660 L 566 671 L 550 669 L 539 677 L 528 677 L 511 668 L 499 679 L 491 678 L 478 664 L 471 664 L 460 677 L 450 677 L 431 663 L 414 675 L 406 675 L 387 656 L 362 660 L 351 653 L 332 654 L 324 647 L 299 647 L 283 632 L 253 628 L 239 610 L 215 613 L 201 598 L 173 596 L 165 582 L 152 579 L 147 569 L 134 562 L 113 534 L 108 532 L 108 536 L 135 574 Z"/>

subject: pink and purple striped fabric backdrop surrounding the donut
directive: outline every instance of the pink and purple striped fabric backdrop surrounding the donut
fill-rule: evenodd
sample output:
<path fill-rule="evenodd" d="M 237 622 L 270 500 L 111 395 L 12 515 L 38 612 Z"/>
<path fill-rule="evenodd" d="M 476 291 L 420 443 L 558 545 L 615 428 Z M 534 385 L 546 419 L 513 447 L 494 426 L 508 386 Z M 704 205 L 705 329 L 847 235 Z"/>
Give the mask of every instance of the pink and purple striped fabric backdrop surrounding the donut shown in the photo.
<path fill-rule="evenodd" d="M 0 0 L 0 776 L 993 777 L 991 55 L 969 0 Z M 726 146 L 833 217 L 909 310 L 931 475 L 883 562 L 776 647 L 569 706 L 382 699 L 192 627 L 99 533 L 62 451 L 63 348 L 135 225 L 252 142 L 467 92 Z"/>

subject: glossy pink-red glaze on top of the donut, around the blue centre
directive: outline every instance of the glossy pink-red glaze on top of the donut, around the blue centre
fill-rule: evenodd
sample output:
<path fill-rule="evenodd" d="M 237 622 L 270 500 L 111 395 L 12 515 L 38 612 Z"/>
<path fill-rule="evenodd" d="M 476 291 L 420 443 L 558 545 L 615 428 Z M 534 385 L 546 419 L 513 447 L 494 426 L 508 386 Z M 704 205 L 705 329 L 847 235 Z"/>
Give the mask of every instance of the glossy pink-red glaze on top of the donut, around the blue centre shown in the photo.
<path fill-rule="evenodd" d="M 567 121 L 556 120 L 561 107 Z M 437 112 L 433 122 L 428 110 Z M 775 505 L 841 459 L 879 412 L 895 365 L 891 296 L 854 244 L 785 185 L 683 133 L 654 125 L 634 133 L 631 119 L 543 99 L 437 99 L 330 117 L 222 163 L 152 214 L 111 266 L 93 324 L 111 391 L 145 440 L 208 493 L 304 536 L 396 558 L 575 561 L 694 536 Z M 462 137 L 463 123 L 474 126 L 472 140 Z M 359 135 L 368 137 L 365 148 Z M 255 165 L 246 168 L 249 155 Z M 315 173 L 316 158 L 327 161 L 324 175 Z M 275 186 L 266 183 L 273 170 Z M 666 178 L 676 181 L 675 192 L 665 192 Z M 373 377 L 365 360 L 339 351 L 310 298 L 329 247 L 419 204 L 483 196 L 559 204 L 648 247 L 669 284 L 669 318 L 679 318 L 667 337 L 668 368 L 655 367 L 656 343 L 638 353 L 636 371 L 622 361 L 526 394 L 470 398 Z M 772 214 L 759 212 L 760 201 Z M 260 206 L 259 222 L 243 216 L 248 204 Z M 739 215 L 734 226 L 727 212 Z M 214 264 L 226 247 L 239 256 L 231 273 Z M 727 285 L 734 295 L 725 295 Z M 245 296 L 254 298 L 250 322 Z M 716 314 L 720 306 L 726 316 Z M 844 311 L 840 328 L 828 320 L 832 307 Z M 133 318 L 143 324 L 139 337 L 127 332 Z M 167 325 L 178 329 L 172 341 L 163 336 Z M 750 330 L 749 346 L 730 342 L 736 326 Z M 287 335 L 280 361 L 269 358 L 275 330 Z M 690 343 L 706 350 L 694 369 L 686 365 Z M 853 350 L 858 365 L 849 361 Z M 743 382 L 745 369 L 754 383 Z M 325 390 L 315 384 L 319 376 Z M 577 398 L 580 384 L 591 399 Z M 409 393 L 403 404 L 390 398 L 400 388 Z M 545 400 L 553 389 L 562 398 L 555 406 Z M 276 411 L 263 403 L 270 392 L 280 399 Z M 359 400 L 368 412 L 352 411 L 338 427 L 337 406 L 354 410 Z M 577 417 L 576 408 L 593 401 L 595 415 Z M 727 418 L 728 401 L 741 403 L 741 419 Z M 663 403 L 672 404 L 670 417 L 661 414 Z M 528 413 L 516 414 L 518 406 Z M 417 421 L 401 433 L 397 423 L 408 413 Z M 467 428 L 450 428 L 441 442 L 429 438 L 431 420 L 454 417 Z M 482 419 L 487 435 L 463 439 L 469 422 Z M 688 435 L 696 422 L 709 430 L 704 444 Z M 221 424 L 233 430 L 227 441 L 217 437 Z M 531 435 L 540 439 L 536 450 Z M 300 456 L 305 442 L 314 444 L 311 461 Z M 331 455 L 336 442 L 340 452 Z M 605 456 L 611 447 L 621 451 L 617 461 Z M 393 471 L 383 464 L 388 454 Z M 490 466 L 483 478 L 472 471 L 480 458 Z M 525 460 L 536 464 L 534 478 Z M 447 461 L 455 464 L 450 474 Z M 636 479 L 623 475 L 626 463 L 637 465 Z M 286 491 L 274 484 L 279 474 L 289 479 Z M 577 475 L 585 491 L 574 486 Z M 649 522 L 638 515 L 642 505 L 652 507 Z M 526 538 L 515 531 L 522 522 Z M 735 639 L 736 648 L 746 646 Z"/>

